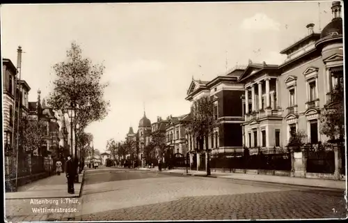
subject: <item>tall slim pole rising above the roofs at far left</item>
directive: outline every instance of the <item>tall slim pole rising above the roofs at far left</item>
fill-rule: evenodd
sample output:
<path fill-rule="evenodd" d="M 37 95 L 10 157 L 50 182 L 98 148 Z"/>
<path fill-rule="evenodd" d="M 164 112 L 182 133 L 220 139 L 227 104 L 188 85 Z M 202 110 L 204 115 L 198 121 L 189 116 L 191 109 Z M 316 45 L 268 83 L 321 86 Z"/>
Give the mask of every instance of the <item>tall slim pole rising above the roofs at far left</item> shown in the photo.
<path fill-rule="evenodd" d="M 18 46 L 17 49 L 17 70 L 19 70 L 19 80 L 18 83 L 16 83 L 16 89 L 17 91 L 17 84 L 19 84 L 19 95 L 18 95 L 18 107 L 17 107 L 17 140 L 16 140 L 16 188 L 17 188 L 17 178 L 18 178 L 18 144 L 19 144 L 19 117 L 20 117 L 20 105 L 21 105 L 21 90 L 22 90 L 22 84 L 21 84 L 21 75 L 22 75 L 22 47 Z"/>

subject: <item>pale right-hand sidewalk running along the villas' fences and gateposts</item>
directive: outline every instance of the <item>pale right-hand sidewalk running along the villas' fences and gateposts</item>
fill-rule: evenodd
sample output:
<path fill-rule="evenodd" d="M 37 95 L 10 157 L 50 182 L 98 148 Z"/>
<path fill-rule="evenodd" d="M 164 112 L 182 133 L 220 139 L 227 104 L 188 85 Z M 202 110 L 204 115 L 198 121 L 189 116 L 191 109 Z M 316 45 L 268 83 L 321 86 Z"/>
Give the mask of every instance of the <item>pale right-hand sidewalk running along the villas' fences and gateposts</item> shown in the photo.
<path fill-rule="evenodd" d="M 158 171 L 158 167 L 148 169 L 148 168 L 140 168 L 140 170 L 147 171 Z M 346 189 L 346 181 L 345 180 L 325 180 L 325 179 L 315 179 L 315 178 L 297 178 L 297 177 L 289 177 L 289 176 L 271 176 L 271 175 L 263 175 L 263 174 L 232 174 L 232 173 L 219 173 L 212 172 L 210 176 L 206 175 L 205 171 L 192 171 L 189 170 L 189 173 L 186 173 L 186 169 L 170 169 L 163 170 L 162 173 L 170 173 L 170 174 L 180 174 L 180 175 L 191 175 L 191 176 L 206 176 L 213 178 L 229 178 L 235 180 L 251 180 L 258 181 L 264 183 L 279 183 L 286 185 L 299 185 L 306 187 L 325 187 L 330 189 Z"/>

